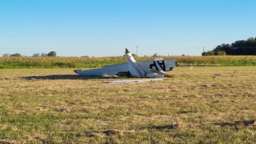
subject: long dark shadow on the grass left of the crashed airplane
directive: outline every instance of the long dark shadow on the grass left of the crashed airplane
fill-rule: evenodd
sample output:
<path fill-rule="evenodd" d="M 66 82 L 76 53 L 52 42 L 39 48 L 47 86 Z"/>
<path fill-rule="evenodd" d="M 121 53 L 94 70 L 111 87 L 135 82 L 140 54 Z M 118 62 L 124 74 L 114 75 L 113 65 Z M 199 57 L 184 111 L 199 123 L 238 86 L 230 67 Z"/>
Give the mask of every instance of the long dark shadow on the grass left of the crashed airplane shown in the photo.
<path fill-rule="evenodd" d="M 112 79 L 115 77 L 86 76 L 86 75 L 45 75 L 21 77 L 25 80 L 90 80 L 90 79 Z"/>

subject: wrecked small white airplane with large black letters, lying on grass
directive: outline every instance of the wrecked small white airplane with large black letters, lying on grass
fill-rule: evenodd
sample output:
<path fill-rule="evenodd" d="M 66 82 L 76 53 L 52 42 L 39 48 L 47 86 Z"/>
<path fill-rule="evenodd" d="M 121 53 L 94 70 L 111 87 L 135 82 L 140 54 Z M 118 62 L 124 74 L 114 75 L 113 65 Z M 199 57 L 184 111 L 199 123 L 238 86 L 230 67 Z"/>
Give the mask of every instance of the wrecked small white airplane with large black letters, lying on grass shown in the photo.
<path fill-rule="evenodd" d="M 118 77 L 170 77 L 165 74 L 167 71 L 173 70 L 176 67 L 175 59 L 155 58 L 154 61 L 135 61 L 129 50 L 125 49 L 125 55 L 127 56 L 128 63 L 114 64 L 110 66 L 104 66 L 100 69 L 89 70 L 74 70 L 79 75 L 97 75 L 97 76 L 112 76 Z"/>

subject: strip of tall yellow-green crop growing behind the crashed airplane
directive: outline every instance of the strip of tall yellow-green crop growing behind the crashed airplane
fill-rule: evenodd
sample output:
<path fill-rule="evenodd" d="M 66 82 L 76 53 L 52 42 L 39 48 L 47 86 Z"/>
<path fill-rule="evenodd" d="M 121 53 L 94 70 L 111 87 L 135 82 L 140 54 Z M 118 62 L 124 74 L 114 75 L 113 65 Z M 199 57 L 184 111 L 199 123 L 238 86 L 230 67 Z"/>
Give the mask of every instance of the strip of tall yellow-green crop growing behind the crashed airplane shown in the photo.
<path fill-rule="evenodd" d="M 137 61 L 154 60 L 156 57 L 135 57 Z M 256 56 L 162 56 L 174 58 L 178 64 L 220 64 L 221 66 L 254 66 Z M 24 68 L 99 68 L 105 65 L 127 63 L 124 56 L 80 57 L 0 57 L 0 69 Z"/>

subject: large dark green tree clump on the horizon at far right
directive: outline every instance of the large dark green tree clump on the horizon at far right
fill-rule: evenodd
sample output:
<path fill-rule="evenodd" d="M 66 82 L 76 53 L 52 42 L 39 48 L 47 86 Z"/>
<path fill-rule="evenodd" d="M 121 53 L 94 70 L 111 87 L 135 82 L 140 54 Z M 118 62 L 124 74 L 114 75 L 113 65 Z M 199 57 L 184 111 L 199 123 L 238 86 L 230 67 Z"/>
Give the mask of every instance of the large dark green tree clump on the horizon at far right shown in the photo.
<path fill-rule="evenodd" d="M 214 55 L 256 55 L 256 37 L 249 37 L 246 40 L 238 40 L 232 44 L 218 45 L 214 50 L 202 53 L 202 56 Z"/>

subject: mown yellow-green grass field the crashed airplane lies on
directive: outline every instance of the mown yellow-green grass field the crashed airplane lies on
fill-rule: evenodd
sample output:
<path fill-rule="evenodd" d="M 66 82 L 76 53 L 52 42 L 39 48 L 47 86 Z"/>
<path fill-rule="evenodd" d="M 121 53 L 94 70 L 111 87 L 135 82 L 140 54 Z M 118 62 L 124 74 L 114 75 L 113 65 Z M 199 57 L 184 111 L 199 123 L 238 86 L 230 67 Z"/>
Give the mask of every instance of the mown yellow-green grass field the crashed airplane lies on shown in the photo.
<path fill-rule="evenodd" d="M 256 143 L 256 67 L 121 85 L 72 70 L 0 69 L 0 143 Z"/>

